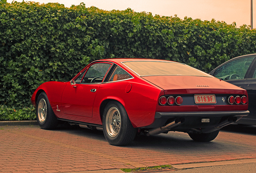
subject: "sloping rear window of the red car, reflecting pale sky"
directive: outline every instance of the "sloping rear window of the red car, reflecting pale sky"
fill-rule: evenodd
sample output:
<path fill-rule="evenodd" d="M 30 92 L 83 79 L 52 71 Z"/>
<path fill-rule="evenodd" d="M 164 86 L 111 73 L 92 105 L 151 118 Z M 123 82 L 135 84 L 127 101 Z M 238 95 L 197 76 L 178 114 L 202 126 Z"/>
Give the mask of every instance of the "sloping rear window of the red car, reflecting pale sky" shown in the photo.
<path fill-rule="evenodd" d="M 211 75 L 205 72 L 178 62 L 127 61 L 122 63 L 134 72 L 136 72 L 139 76 L 182 75 L 211 77 Z"/>

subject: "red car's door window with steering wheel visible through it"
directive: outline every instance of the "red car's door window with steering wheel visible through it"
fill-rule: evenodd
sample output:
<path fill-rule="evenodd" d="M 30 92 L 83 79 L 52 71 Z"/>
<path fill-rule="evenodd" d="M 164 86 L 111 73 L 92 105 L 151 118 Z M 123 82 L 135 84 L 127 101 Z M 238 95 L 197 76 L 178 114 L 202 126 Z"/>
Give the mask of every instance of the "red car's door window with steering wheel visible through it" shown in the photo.
<path fill-rule="evenodd" d="M 109 63 L 92 64 L 85 73 L 82 83 L 101 83 L 111 65 Z"/>

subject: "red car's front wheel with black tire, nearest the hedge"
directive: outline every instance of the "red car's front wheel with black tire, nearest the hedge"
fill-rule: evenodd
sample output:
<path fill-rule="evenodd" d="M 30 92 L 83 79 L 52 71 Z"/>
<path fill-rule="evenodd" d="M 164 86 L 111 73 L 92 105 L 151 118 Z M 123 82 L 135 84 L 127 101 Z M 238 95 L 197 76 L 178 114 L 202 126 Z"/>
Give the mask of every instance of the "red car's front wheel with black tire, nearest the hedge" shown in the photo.
<path fill-rule="evenodd" d="M 37 122 L 41 129 L 55 129 L 58 119 L 55 116 L 47 95 L 43 92 L 37 98 L 36 103 Z"/>

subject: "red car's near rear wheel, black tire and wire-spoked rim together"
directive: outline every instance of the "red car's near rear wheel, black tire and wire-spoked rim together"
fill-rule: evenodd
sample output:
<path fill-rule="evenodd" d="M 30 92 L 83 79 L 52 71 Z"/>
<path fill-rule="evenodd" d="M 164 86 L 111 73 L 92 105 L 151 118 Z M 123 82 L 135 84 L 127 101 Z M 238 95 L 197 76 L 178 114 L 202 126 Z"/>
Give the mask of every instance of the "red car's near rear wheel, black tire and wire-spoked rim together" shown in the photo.
<path fill-rule="evenodd" d="M 105 107 L 102 121 L 103 133 L 109 144 L 122 146 L 134 140 L 136 129 L 121 103 L 110 101 Z"/>

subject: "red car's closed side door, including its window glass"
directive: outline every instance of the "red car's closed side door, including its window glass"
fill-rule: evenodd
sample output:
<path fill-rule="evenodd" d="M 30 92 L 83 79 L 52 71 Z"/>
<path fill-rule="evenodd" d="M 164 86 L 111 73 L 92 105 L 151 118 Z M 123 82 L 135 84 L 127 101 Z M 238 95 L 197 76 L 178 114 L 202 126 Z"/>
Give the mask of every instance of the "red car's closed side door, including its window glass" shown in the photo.
<path fill-rule="evenodd" d="M 66 85 L 61 99 L 65 114 L 92 117 L 97 90 L 111 65 L 105 62 L 91 64 Z"/>

